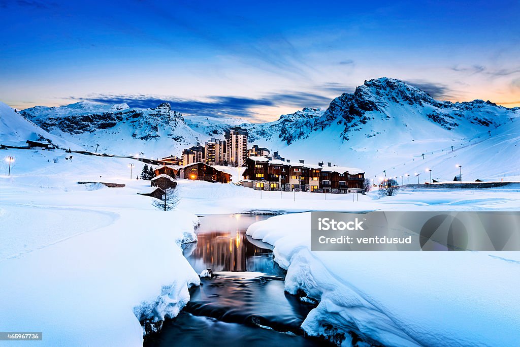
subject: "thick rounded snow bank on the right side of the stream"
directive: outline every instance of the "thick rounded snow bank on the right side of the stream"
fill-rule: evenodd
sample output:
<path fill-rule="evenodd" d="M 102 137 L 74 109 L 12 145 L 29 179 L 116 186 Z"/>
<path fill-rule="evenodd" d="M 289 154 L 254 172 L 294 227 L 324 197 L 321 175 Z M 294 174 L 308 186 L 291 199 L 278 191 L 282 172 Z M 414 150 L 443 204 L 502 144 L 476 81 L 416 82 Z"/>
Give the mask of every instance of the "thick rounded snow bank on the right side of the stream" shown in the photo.
<path fill-rule="evenodd" d="M 288 269 L 285 290 L 320 301 L 302 328 L 350 345 L 517 345 L 519 252 L 311 252 L 310 213 L 251 225 Z"/>

